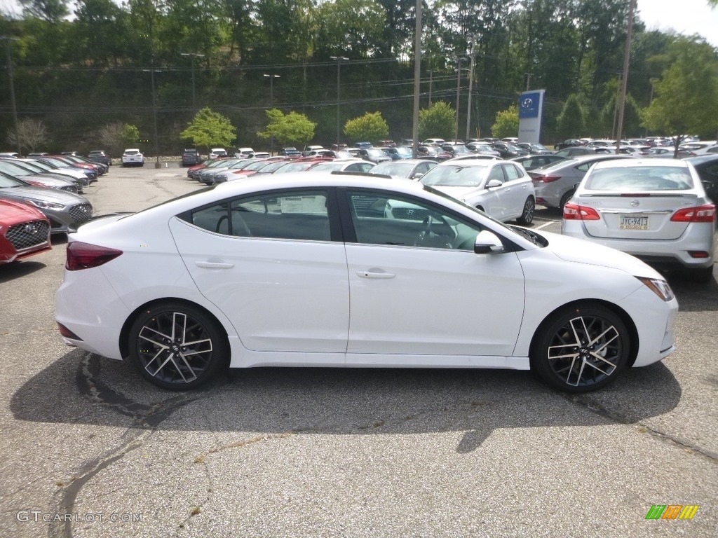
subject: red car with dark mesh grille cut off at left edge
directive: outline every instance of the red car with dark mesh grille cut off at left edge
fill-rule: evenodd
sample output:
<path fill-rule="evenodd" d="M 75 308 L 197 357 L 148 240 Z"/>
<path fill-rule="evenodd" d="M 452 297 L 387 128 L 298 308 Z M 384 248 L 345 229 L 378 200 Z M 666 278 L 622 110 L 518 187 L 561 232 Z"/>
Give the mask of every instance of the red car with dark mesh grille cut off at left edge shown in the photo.
<path fill-rule="evenodd" d="M 0 199 L 0 264 L 50 250 L 50 221 L 34 207 Z"/>

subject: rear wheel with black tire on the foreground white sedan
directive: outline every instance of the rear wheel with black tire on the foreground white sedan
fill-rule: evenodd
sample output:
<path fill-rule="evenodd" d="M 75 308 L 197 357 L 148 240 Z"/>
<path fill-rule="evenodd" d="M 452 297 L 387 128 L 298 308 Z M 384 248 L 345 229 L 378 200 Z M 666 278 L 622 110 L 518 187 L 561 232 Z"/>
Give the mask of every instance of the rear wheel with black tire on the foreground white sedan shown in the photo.
<path fill-rule="evenodd" d="M 195 389 L 228 364 L 229 344 L 218 323 L 199 308 L 181 303 L 142 311 L 129 331 L 128 344 L 140 374 L 167 390 Z"/>

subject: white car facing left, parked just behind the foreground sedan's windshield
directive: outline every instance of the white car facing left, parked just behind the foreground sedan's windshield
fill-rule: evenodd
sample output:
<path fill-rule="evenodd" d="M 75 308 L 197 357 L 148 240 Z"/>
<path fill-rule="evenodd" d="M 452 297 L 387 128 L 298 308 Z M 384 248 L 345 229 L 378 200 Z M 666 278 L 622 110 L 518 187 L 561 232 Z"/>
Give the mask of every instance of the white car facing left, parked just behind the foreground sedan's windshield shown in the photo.
<path fill-rule="evenodd" d="M 498 159 L 451 159 L 419 179 L 502 222 L 533 222 L 536 193 L 533 180 L 518 163 Z"/>

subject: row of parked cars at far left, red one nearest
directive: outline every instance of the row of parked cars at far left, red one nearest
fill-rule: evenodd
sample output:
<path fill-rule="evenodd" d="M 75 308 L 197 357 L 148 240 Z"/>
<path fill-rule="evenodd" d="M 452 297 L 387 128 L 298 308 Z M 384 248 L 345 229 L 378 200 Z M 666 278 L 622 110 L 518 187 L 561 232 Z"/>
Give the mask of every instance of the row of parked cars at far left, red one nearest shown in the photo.
<path fill-rule="evenodd" d="M 0 156 L 0 264 L 50 249 L 51 235 L 89 220 L 82 194 L 108 166 L 75 154 Z"/>

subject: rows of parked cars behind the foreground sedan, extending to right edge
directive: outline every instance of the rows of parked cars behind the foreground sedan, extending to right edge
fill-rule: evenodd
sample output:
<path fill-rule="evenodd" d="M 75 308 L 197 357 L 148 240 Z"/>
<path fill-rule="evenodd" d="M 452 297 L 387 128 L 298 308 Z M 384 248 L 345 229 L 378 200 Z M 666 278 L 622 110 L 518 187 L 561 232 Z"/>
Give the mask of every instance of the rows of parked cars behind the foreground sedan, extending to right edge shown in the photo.
<path fill-rule="evenodd" d="M 625 181 L 617 179 L 613 189 L 603 189 L 605 192 L 585 194 L 579 190 L 589 171 L 604 166 Z M 208 161 L 190 168 L 187 176 L 211 185 L 256 174 L 308 170 L 414 179 L 496 220 L 516 220 L 524 226 L 533 222 L 536 204 L 553 207 L 561 210 L 569 235 L 593 237 L 614 247 L 623 241 L 624 250 L 650 258 L 657 265 L 689 268 L 696 280 L 712 277 L 718 154 L 678 160 L 611 153 L 572 158 L 546 153 L 513 159 L 470 154 L 441 162 L 401 159 L 379 164 L 355 157 L 275 156 Z M 648 203 L 653 199 L 661 201 L 663 216 L 658 216 L 657 207 L 653 207 L 656 204 Z M 686 217 L 686 210 L 695 214 Z M 598 220 L 600 224 L 595 224 L 602 226 L 602 231 L 592 227 L 591 222 L 586 224 L 589 220 Z M 682 231 L 677 232 L 679 229 Z M 644 240 L 651 245 L 645 251 L 640 248 Z"/>

